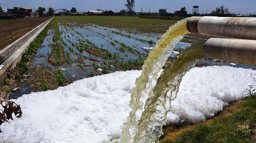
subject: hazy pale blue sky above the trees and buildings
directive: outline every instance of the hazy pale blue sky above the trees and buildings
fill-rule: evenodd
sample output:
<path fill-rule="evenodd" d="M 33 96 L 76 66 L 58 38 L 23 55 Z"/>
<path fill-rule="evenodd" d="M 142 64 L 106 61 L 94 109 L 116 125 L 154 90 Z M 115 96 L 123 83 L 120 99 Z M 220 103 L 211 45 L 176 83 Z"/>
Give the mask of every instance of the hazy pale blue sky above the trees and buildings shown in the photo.
<path fill-rule="evenodd" d="M 88 12 L 96 10 L 112 10 L 114 12 L 120 9 L 126 9 L 124 4 L 126 0 L 0 0 L 3 9 L 16 7 L 31 7 L 32 9 L 43 6 L 46 9 L 53 7 L 54 9 L 65 8 L 70 10 L 76 7 L 78 12 Z M 231 13 L 250 14 L 256 12 L 256 0 L 135 0 L 135 11 L 140 12 L 158 12 L 161 8 L 166 8 L 168 12 L 180 10 L 186 7 L 188 13 L 192 13 L 193 5 L 199 5 L 199 13 L 212 12 L 216 7 L 224 5 Z"/>

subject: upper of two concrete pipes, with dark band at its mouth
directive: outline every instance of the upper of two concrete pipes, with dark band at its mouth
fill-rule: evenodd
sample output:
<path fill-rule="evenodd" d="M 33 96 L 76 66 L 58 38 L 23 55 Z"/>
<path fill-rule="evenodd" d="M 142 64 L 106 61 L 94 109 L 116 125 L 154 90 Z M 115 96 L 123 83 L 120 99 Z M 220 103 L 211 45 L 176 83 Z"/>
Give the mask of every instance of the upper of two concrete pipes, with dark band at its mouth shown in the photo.
<path fill-rule="evenodd" d="M 187 29 L 206 36 L 256 40 L 256 18 L 191 17 Z"/>

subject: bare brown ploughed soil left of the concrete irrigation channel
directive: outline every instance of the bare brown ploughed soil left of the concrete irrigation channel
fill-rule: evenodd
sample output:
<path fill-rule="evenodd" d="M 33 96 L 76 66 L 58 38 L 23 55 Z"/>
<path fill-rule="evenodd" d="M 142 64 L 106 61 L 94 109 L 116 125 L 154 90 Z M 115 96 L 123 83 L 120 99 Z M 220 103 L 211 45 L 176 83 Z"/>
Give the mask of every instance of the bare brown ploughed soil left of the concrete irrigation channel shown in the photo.
<path fill-rule="evenodd" d="M 50 17 L 16 19 L 0 22 L 0 50 L 25 35 Z"/>

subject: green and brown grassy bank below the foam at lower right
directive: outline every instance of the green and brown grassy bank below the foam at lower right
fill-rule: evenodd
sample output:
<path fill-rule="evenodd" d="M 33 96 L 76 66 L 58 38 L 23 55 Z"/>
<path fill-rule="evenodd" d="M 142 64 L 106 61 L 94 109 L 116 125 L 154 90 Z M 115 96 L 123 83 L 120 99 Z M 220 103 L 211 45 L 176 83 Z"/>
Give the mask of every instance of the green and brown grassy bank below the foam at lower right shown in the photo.
<path fill-rule="evenodd" d="M 248 91 L 252 88 L 248 88 Z M 249 92 L 250 93 L 250 92 Z M 254 91 L 241 101 L 225 107 L 224 111 L 196 125 L 164 127 L 161 143 L 255 143 L 256 94 Z"/>

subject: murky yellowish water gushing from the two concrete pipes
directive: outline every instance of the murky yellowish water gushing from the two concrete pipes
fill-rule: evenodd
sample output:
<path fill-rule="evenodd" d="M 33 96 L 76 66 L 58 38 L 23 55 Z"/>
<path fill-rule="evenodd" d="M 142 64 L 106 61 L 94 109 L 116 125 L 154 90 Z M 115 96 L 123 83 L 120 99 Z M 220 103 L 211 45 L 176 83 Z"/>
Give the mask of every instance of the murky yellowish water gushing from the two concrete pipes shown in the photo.
<path fill-rule="evenodd" d="M 145 143 L 158 141 L 171 100 L 176 98 L 181 78 L 203 57 L 202 44 L 186 49 L 157 79 L 174 46 L 188 34 L 187 19 L 174 24 L 156 42 L 142 66 L 142 73 L 132 90 L 132 111 L 123 125 L 121 143 Z M 167 95 L 170 91 L 171 94 Z M 167 103 L 167 104 L 166 104 Z"/>

